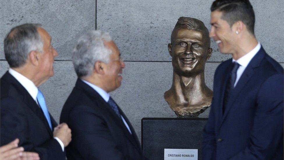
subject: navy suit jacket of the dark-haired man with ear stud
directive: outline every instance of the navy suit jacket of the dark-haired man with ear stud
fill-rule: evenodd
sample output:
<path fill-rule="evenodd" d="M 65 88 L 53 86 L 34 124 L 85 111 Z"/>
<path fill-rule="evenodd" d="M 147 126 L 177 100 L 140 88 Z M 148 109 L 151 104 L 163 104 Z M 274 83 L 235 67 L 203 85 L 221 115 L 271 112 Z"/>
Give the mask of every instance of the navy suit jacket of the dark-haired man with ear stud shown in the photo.
<path fill-rule="evenodd" d="M 222 114 L 232 59 L 214 75 L 214 97 L 203 132 L 203 159 L 283 159 L 283 68 L 261 47 Z"/>

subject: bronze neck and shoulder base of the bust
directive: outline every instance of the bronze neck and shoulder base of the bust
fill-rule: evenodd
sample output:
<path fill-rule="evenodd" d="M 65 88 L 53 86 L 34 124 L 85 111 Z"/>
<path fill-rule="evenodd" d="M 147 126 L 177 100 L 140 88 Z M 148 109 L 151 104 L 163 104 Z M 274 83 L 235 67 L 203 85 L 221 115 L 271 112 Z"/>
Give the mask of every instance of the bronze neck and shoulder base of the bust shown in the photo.
<path fill-rule="evenodd" d="M 173 72 L 172 86 L 164 94 L 165 100 L 175 112 L 176 110 L 197 112 L 204 107 L 208 108 L 212 97 L 212 90 L 205 85 L 204 72 L 190 77 Z"/>

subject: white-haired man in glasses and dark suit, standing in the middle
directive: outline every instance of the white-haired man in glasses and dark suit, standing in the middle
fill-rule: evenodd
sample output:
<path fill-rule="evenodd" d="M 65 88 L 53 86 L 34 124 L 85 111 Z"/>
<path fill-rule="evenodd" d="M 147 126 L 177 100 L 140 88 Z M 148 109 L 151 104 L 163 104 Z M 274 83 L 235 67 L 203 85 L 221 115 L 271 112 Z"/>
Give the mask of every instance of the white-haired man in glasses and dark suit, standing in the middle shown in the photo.
<path fill-rule="evenodd" d="M 72 129 L 68 159 L 143 159 L 136 133 L 109 92 L 120 87 L 125 67 L 108 33 L 90 31 L 73 51 L 78 80 L 60 122 Z"/>

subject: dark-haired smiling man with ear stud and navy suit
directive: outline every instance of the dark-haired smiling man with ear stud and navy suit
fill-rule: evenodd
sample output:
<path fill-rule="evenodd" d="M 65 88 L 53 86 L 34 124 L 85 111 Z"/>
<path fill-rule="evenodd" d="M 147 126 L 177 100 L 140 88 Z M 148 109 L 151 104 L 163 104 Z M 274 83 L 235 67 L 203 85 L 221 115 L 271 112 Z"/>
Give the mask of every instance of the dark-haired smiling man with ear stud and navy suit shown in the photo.
<path fill-rule="evenodd" d="M 210 37 L 232 54 L 214 75 L 203 159 L 283 159 L 283 68 L 254 35 L 248 0 L 216 0 Z"/>

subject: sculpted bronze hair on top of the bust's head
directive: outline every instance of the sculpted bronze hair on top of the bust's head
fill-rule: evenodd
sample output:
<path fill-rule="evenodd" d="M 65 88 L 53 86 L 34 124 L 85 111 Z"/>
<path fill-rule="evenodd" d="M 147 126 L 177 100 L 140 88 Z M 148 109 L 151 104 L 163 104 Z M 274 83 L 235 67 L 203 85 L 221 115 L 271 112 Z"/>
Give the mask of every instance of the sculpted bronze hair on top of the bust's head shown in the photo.
<path fill-rule="evenodd" d="M 175 24 L 175 28 L 185 27 L 187 29 L 198 29 L 203 31 L 204 36 L 206 36 L 208 47 L 210 48 L 210 37 L 207 27 L 204 23 L 196 18 L 191 17 L 180 17 Z"/>

